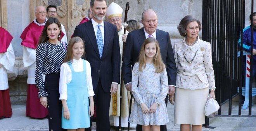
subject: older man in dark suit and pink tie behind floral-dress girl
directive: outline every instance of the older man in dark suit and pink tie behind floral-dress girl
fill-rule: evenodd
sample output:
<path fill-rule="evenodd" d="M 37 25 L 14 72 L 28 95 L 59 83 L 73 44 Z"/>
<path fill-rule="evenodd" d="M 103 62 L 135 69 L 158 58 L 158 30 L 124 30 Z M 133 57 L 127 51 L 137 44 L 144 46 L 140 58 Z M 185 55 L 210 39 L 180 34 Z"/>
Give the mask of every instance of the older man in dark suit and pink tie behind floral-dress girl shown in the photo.
<path fill-rule="evenodd" d="M 144 40 L 148 37 L 154 37 L 159 42 L 161 56 L 168 74 L 169 95 L 174 94 L 176 86 L 176 64 L 173 55 L 173 48 L 169 33 L 156 29 L 157 15 L 152 9 L 147 9 L 142 13 L 142 24 L 144 27 L 130 32 L 126 39 L 124 60 L 122 64 L 123 79 L 125 87 L 131 91 L 131 66 L 138 61 L 138 55 Z M 165 102 L 167 106 L 168 96 Z M 166 125 L 161 126 L 161 131 L 166 131 Z M 137 131 L 142 131 L 142 126 L 137 125 Z"/>

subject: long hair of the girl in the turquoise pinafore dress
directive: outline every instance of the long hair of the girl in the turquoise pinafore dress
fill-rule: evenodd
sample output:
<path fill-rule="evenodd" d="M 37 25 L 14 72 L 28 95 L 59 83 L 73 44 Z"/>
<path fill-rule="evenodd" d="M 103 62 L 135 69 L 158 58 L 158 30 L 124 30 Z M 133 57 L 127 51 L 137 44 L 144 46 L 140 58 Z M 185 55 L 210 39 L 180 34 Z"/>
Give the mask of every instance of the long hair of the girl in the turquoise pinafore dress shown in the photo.
<path fill-rule="evenodd" d="M 68 64 L 71 64 L 73 62 L 73 46 L 75 43 L 78 43 L 78 42 L 81 42 L 83 44 L 83 55 L 82 55 L 82 58 L 85 58 L 85 44 L 83 43 L 83 40 L 76 36 L 76 37 L 73 37 L 69 40 L 68 42 L 68 45 L 67 45 L 67 53 L 66 53 L 66 56 L 62 62 L 65 63 L 67 62 Z"/>

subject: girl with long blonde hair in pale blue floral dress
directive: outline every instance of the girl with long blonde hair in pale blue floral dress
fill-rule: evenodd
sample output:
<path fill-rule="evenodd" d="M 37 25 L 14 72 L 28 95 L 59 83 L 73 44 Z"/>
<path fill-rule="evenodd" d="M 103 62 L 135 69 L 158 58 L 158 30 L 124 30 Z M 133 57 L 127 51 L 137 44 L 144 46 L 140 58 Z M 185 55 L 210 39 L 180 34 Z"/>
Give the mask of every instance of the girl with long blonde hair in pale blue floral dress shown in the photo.
<path fill-rule="evenodd" d="M 134 64 L 132 94 L 135 98 L 129 122 L 142 125 L 143 131 L 160 131 L 160 125 L 169 122 L 164 99 L 168 93 L 168 76 L 153 37 L 141 47 L 138 62 Z"/>

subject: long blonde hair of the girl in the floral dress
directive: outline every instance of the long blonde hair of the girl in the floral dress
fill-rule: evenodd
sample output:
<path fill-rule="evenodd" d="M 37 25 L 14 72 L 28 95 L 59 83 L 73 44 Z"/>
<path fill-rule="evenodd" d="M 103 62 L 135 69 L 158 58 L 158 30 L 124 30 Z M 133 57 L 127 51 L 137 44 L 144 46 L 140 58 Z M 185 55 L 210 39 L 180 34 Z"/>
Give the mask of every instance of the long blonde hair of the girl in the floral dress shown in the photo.
<path fill-rule="evenodd" d="M 142 71 L 146 67 L 145 47 L 149 43 L 154 43 L 156 45 L 156 55 L 153 57 L 153 64 L 154 64 L 154 67 L 155 67 L 155 70 L 156 70 L 155 72 L 156 73 L 161 73 L 161 72 L 164 71 L 165 66 L 164 66 L 164 63 L 163 63 L 163 60 L 162 60 L 162 57 L 161 57 L 159 43 L 153 37 L 149 37 L 146 40 L 144 40 L 144 42 L 141 46 L 140 54 L 139 54 L 139 57 L 138 57 L 139 71 Z"/>

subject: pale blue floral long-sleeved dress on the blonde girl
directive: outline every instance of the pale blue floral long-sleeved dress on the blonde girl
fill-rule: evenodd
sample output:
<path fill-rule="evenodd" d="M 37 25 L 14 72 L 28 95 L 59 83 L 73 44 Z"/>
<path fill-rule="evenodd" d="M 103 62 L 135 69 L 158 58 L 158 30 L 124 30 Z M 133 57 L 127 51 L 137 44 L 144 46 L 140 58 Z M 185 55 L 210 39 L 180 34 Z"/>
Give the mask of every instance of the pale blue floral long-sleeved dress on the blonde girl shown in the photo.
<path fill-rule="evenodd" d="M 168 76 L 164 69 L 155 72 L 154 64 L 146 64 L 143 71 L 135 63 L 132 71 L 132 93 L 135 98 L 129 122 L 140 125 L 164 125 L 169 122 L 164 99 L 168 93 Z M 158 104 L 155 113 L 144 114 L 140 104 L 145 103 L 149 108 L 154 102 Z"/>

